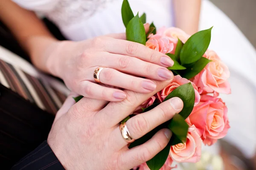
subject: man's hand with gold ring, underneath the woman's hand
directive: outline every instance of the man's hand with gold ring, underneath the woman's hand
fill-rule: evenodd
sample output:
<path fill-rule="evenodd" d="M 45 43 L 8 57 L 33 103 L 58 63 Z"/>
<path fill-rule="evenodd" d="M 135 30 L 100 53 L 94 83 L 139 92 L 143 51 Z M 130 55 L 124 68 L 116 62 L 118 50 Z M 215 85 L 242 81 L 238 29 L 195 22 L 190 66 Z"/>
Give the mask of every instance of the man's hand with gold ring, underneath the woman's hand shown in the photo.
<path fill-rule="evenodd" d="M 127 98 L 121 102 L 108 103 L 84 97 L 73 105 L 73 99 L 68 97 L 56 115 L 47 140 L 64 168 L 129 170 L 153 158 L 166 147 L 172 135 L 169 129 L 158 131 L 148 142 L 132 149 L 128 149 L 128 142 L 122 138 L 119 129 L 122 119 L 169 84 L 166 81 L 154 83 L 157 88 L 149 94 L 125 90 Z M 131 137 L 139 139 L 171 119 L 182 108 L 182 100 L 174 97 L 151 111 L 132 117 L 126 122 Z"/>

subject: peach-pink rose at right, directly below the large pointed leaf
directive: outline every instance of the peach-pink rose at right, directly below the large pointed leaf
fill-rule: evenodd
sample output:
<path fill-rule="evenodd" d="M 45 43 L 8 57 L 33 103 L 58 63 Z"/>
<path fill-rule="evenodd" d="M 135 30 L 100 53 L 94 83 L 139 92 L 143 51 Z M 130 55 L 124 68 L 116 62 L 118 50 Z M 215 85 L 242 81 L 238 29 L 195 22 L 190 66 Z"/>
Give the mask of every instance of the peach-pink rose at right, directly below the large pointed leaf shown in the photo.
<path fill-rule="evenodd" d="M 227 65 L 212 50 L 207 50 L 203 57 L 212 60 L 212 62 L 209 62 L 193 80 L 199 91 L 230 94 L 230 84 L 227 81 L 230 77 L 230 71 Z"/>

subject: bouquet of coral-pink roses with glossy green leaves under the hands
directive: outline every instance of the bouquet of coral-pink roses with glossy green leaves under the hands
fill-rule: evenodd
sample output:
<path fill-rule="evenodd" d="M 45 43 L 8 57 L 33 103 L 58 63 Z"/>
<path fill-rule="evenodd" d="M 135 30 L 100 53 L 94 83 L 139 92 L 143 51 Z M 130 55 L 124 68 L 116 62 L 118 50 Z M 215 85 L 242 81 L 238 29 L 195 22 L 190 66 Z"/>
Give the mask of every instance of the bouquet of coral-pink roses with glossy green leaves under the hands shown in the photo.
<path fill-rule="evenodd" d="M 207 49 L 212 28 L 190 36 L 174 27 L 156 30 L 154 23 L 151 23 L 146 33 L 143 26 L 146 14 L 134 16 L 128 0 L 122 3 L 122 20 L 128 41 L 167 54 L 174 61 L 174 65 L 168 68 L 175 75 L 173 81 L 135 112 L 149 111 L 175 96 L 183 100 L 183 110 L 179 114 L 131 143 L 129 148 L 143 144 L 162 128 L 169 128 L 173 133 L 169 144 L 160 153 L 134 167 L 134 170 L 170 170 L 174 168 L 171 167 L 172 161 L 199 161 L 202 142 L 212 145 L 223 138 L 230 128 L 227 107 L 218 97 L 219 93 L 231 92 L 227 81 L 230 72 L 215 51 Z"/>

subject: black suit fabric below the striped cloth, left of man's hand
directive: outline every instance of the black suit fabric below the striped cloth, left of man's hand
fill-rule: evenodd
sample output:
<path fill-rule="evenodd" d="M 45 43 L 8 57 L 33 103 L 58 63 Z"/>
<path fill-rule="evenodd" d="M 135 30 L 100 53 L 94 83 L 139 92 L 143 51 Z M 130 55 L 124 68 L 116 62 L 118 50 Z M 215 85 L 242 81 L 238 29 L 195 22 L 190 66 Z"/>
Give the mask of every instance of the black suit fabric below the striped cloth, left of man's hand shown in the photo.
<path fill-rule="evenodd" d="M 47 140 L 54 116 L 0 84 L 0 164 L 10 169 Z"/>

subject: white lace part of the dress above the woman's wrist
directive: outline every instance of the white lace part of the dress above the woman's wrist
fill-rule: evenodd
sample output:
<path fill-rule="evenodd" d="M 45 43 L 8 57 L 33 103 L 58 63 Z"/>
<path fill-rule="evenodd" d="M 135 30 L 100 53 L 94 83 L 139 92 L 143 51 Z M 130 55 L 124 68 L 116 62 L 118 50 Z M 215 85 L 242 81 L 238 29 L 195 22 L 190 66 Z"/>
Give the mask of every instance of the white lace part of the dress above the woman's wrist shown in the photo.
<path fill-rule="evenodd" d="M 13 0 L 24 8 L 44 13 L 59 27 L 87 20 L 114 0 Z M 25 2 L 24 2 L 25 1 Z M 27 1 L 27 2 L 26 2 Z"/>

